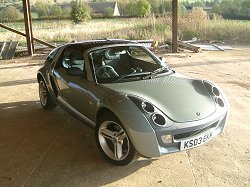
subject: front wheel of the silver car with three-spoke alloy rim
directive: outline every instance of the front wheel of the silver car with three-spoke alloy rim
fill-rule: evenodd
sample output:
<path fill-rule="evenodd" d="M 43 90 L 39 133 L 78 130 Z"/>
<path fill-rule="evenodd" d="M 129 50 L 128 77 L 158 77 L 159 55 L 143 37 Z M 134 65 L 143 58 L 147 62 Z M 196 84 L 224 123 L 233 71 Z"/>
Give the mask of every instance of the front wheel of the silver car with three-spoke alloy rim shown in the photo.
<path fill-rule="evenodd" d="M 111 113 L 98 120 L 95 138 L 99 150 L 112 164 L 124 166 L 139 158 L 122 123 Z"/>

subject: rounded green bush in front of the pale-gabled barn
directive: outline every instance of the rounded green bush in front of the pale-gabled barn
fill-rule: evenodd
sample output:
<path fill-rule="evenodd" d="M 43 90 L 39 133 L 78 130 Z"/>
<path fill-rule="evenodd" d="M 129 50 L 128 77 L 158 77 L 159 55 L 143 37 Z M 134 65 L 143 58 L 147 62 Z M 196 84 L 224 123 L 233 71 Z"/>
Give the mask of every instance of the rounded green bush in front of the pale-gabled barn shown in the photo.
<path fill-rule="evenodd" d="M 71 19 L 74 23 L 80 23 L 91 19 L 91 9 L 87 3 L 79 1 L 71 2 Z"/>

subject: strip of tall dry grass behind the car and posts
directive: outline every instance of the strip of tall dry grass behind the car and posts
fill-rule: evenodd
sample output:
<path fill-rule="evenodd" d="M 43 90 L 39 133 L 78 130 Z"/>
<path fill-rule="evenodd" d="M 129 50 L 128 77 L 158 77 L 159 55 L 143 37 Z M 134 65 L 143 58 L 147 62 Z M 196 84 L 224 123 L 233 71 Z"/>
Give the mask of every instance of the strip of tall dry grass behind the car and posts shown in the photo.
<path fill-rule="evenodd" d="M 7 24 L 24 31 L 22 23 Z M 97 38 L 171 39 L 171 17 L 103 19 L 75 25 L 68 20 L 33 21 L 35 37 L 52 42 L 70 42 Z M 180 16 L 179 37 L 183 40 L 197 37 L 201 40 L 220 40 L 233 44 L 250 44 L 250 22 L 208 20 L 206 13 L 197 9 Z M 25 38 L 0 29 L 0 41 L 15 40 L 21 44 Z"/>

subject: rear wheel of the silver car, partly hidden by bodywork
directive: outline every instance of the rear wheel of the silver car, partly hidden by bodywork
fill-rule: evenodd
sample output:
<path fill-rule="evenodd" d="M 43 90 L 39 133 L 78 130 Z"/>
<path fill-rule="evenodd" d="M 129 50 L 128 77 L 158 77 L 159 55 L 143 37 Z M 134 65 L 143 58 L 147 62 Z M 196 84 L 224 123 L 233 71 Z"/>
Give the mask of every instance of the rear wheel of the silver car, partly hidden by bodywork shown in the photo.
<path fill-rule="evenodd" d="M 42 79 L 39 80 L 39 98 L 43 108 L 52 109 L 56 107 L 56 104 L 51 99 L 47 86 Z"/>

